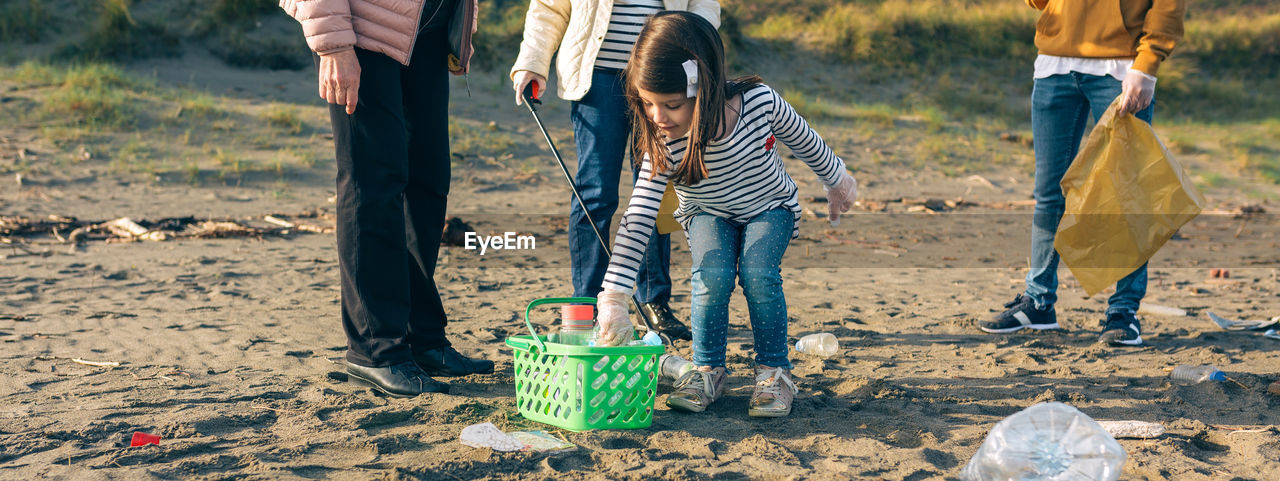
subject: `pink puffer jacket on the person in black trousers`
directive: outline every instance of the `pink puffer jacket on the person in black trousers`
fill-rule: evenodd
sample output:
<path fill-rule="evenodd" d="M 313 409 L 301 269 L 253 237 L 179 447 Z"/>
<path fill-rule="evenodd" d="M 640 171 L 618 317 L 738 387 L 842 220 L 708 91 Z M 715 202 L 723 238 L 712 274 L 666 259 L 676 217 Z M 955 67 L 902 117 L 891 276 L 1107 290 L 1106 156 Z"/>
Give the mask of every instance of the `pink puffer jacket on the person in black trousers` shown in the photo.
<path fill-rule="evenodd" d="M 443 1 L 458 1 L 449 22 L 449 43 L 453 50 L 449 70 L 462 74 L 471 63 L 471 35 L 476 28 L 477 0 Z M 385 54 L 408 65 L 422 3 L 424 0 L 280 0 L 280 8 L 302 23 L 307 46 L 317 54 L 356 46 Z"/>

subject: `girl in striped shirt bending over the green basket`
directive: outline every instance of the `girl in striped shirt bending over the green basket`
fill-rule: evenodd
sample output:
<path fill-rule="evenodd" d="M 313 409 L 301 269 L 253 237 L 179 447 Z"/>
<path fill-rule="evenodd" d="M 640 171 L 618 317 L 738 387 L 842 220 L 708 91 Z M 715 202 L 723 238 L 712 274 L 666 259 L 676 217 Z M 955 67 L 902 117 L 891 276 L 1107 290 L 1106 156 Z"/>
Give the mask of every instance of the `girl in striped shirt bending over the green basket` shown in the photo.
<path fill-rule="evenodd" d="M 742 285 L 755 336 L 755 391 L 748 413 L 791 413 L 797 393 L 787 359 L 787 307 L 780 264 L 797 235 L 796 185 L 776 141 L 786 145 L 828 188 L 829 219 L 852 205 L 858 183 L 818 133 L 759 77 L 724 81 L 719 35 L 682 12 L 654 15 L 625 70 L 626 92 L 643 120 L 632 138 L 644 160 L 618 225 L 599 306 L 599 342 L 625 339 L 627 298 L 658 212 L 673 182 L 676 219 L 692 253 L 694 370 L 676 381 L 667 406 L 701 412 L 721 397 L 728 299 Z"/>

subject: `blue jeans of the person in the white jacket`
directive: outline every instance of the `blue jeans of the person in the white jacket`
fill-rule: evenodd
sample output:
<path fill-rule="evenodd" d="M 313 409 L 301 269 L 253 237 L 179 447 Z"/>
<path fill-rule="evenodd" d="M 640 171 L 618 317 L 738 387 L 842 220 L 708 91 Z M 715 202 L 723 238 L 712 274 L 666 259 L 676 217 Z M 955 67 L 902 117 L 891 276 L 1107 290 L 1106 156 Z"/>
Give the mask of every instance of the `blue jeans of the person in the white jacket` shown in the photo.
<path fill-rule="evenodd" d="M 609 224 L 618 209 L 618 177 L 631 133 L 631 113 L 617 73 L 595 70 L 591 90 L 582 100 L 570 106 L 573 138 L 577 142 L 577 183 L 582 202 L 591 212 L 595 226 L 604 240 L 612 240 Z M 632 164 L 639 165 L 639 160 Z M 639 169 L 632 169 L 635 182 Z M 586 221 L 582 206 L 570 194 L 568 215 L 570 267 L 573 276 L 573 297 L 595 297 L 600 293 L 609 256 Z M 649 238 L 640 271 L 636 272 L 636 297 L 640 302 L 667 303 L 671 298 L 671 235 L 657 230 Z"/>

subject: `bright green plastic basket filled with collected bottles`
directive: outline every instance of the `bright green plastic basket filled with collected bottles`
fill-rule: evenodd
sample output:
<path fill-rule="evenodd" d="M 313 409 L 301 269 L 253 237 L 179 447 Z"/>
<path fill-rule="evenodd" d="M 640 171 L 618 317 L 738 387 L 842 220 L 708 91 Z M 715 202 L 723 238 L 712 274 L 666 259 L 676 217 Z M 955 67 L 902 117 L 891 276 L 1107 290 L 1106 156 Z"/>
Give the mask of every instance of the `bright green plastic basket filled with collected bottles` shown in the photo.
<path fill-rule="evenodd" d="M 570 431 L 649 427 L 664 348 L 570 345 L 538 335 L 529 320 L 534 307 L 564 303 L 594 304 L 595 298 L 534 301 L 525 310 L 530 335 L 507 338 L 516 356 L 520 414 Z"/>

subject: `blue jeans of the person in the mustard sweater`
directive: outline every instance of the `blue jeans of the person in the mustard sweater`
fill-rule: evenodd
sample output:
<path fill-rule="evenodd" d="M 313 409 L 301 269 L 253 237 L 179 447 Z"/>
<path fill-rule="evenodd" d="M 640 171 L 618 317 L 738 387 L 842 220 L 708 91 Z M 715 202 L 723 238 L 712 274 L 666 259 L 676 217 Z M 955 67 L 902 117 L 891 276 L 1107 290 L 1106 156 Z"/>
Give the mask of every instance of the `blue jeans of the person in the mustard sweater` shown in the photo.
<path fill-rule="evenodd" d="M 1027 297 L 1036 307 L 1057 302 L 1057 251 L 1053 235 L 1062 220 L 1066 202 L 1062 175 L 1071 166 L 1084 137 L 1088 120 L 1096 123 L 1111 101 L 1120 96 L 1120 81 L 1110 75 L 1070 73 L 1037 78 L 1032 88 L 1032 137 L 1036 146 L 1036 214 L 1032 217 L 1032 258 L 1027 272 Z M 1151 123 L 1156 104 L 1152 101 L 1137 116 Z M 1116 283 L 1116 292 L 1107 299 L 1107 315 L 1138 311 L 1147 294 L 1147 265 Z"/>

